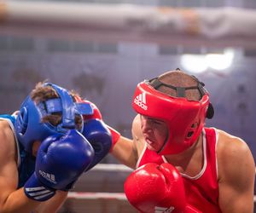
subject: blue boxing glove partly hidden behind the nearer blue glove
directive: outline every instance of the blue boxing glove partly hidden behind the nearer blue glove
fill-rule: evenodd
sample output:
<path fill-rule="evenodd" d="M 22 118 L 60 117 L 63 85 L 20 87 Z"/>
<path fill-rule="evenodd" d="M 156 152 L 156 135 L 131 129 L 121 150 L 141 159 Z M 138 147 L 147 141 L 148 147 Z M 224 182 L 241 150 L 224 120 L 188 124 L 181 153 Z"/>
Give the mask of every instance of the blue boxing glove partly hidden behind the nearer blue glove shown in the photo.
<path fill-rule="evenodd" d="M 90 170 L 109 153 L 112 146 L 112 136 L 106 124 L 95 118 L 84 121 L 82 134 L 90 142 L 95 152 L 93 161 L 87 169 Z"/>

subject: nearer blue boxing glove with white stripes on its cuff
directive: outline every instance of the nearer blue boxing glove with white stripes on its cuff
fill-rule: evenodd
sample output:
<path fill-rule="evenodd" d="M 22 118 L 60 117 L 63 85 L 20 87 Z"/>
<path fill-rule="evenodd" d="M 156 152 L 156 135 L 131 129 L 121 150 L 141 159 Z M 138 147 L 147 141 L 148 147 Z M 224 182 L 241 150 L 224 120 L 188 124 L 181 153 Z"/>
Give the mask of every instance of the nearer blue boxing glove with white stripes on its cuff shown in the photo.
<path fill-rule="evenodd" d="M 61 137 L 49 136 L 38 149 L 35 171 L 24 186 L 26 196 L 44 201 L 57 189 L 69 189 L 93 158 L 93 148 L 77 130 L 69 130 Z"/>

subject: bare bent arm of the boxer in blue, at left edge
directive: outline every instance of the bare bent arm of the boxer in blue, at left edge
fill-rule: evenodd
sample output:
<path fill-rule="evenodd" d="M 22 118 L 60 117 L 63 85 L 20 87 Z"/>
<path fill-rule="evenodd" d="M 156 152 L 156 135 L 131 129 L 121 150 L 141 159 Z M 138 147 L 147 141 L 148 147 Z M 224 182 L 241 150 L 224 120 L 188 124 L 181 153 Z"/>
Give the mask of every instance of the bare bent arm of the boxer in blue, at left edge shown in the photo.
<path fill-rule="evenodd" d="M 8 126 L 8 127 L 7 127 Z M 9 125 L 0 122 L 0 212 L 29 212 L 38 204 L 28 199 L 18 185 L 15 139 Z"/>

